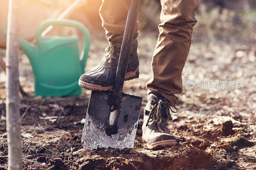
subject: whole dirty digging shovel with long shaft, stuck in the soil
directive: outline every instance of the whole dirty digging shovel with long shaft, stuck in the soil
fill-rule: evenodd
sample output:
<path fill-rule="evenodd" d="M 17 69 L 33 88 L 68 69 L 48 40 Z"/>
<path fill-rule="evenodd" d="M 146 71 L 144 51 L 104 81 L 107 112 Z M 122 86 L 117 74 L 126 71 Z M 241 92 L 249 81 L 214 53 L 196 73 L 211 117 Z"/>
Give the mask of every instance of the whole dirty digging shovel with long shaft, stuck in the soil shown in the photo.
<path fill-rule="evenodd" d="M 113 92 L 92 91 L 82 135 L 83 147 L 133 148 L 142 97 L 123 93 L 140 0 L 131 0 Z"/>

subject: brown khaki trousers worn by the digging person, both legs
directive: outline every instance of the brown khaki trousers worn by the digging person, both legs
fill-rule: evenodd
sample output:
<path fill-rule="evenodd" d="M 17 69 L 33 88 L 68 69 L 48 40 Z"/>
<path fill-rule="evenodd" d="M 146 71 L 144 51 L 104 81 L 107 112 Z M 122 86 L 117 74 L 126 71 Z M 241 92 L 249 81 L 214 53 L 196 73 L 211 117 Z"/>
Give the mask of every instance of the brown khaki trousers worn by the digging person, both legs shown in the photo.
<path fill-rule="evenodd" d="M 181 72 L 191 45 L 192 27 L 196 24 L 199 0 L 161 0 L 159 36 L 152 58 L 153 78 L 148 93 L 161 94 L 172 104 L 182 93 Z M 130 0 L 102 0 L 100 17 L 106 33 L 124 34 Z M 135 28 L 137 32 L 139 24 Z"/>

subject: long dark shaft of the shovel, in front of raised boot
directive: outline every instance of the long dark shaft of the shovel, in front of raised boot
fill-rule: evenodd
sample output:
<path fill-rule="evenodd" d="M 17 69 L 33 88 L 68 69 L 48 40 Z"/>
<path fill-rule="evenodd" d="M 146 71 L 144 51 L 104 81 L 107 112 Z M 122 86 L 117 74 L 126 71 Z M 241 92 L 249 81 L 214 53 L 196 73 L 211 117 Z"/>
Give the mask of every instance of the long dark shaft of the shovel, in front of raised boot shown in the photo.
<path fill-rule="evenodd" d="M 124 77 L 128 65 L 129 56 L 131 53 L 133 34 L 135 25 L 137 24 L 137 15 L 139 11 L 140 0 L 131 0 L 126 20 L 124 38 L 122 42 L 120 57 L 117 65 L 115 85 L 113 89 L 113 96 L 116 97 L 116 104 L 121 104 Z"/>

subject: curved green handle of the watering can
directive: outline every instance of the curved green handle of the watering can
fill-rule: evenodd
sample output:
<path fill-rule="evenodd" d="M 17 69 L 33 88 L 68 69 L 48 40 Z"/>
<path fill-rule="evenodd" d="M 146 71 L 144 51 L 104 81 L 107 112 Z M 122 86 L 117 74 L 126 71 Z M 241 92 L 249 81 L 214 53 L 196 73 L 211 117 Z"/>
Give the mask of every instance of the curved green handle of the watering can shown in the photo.
<path fill-rule="evenodd" d="M 74 21 L 71 19 L 62 19 L 62 20 L 56 20 L 56 19 L 46 19 L 44 20 L 41 25 L 39 25 L 37 32 L 36 32 L 36 39 L 41 39 L 41 33 L 44 31 L 44 28 L 50 26 L 50 25 L 65 25 L 65 26 L 72 26 L 77 29 L 79 29 L 84 36 L 84 45 L 83 49 L 80 55 L 80 61 L 81 61 L 81 68 L 82 72 L 84 72 L 84 67 L 86 64 L 87 55 L 89 52 L 89 47 L 91 43 L 91 38 L 88 29 L 80 22 Z"/>

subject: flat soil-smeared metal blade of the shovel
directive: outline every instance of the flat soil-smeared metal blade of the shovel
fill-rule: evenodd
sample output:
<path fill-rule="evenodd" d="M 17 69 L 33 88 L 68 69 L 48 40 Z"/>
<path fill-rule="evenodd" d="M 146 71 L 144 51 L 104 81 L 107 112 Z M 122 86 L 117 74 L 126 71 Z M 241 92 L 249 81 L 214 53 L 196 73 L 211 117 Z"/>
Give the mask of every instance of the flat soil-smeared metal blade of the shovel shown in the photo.
<path fill-rule="evenodd" d="M 110 92 L 92 91 L 84 131 L 82 135 L 83 147 L 89 150 L 97 148 L 133 148 L 137 131 L 142 97 L 123 93 L 122 108 L 117 122 L 117 134 L 109 135 L 110 106 L 108 99 Z"/>

